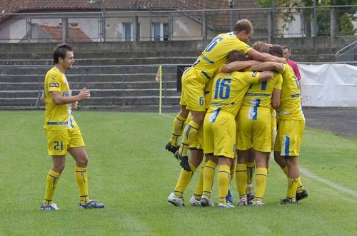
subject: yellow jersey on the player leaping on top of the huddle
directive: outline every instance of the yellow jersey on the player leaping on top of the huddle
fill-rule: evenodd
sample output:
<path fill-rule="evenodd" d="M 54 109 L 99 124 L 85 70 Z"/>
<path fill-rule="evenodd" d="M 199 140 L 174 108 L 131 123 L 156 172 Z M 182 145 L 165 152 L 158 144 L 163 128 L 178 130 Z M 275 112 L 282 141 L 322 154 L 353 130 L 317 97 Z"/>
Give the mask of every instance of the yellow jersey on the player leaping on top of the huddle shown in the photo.
<path fill-rule="evenodd" d="M 240 41 L 233 32 L 218 34 L 208 44 L 192 66 L 202 84 L 206 84 L 209 79 L 216 76 L 218 68 L 227 62 L 228 53 L 234 50 L 247 53 L 251 47 Z"/>

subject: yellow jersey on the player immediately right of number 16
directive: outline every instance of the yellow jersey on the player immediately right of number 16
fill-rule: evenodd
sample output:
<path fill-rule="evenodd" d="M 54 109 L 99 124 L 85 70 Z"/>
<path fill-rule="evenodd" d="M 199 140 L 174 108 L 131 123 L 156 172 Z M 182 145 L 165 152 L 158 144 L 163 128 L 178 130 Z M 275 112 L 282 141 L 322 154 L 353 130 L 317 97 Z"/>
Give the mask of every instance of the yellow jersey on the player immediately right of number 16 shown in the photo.
<path fill-rule="evenodd" d="M 283 76 L 281 73 L 274 73 L 273 78 L 269 81 L 263 81 L 261 83 L 252 83 L 246 92 L 246 96 L 243 100 L 243 106 L 253 106 L 259 108 L 271 108 L 271 96 L 273 95 L 273 90 L 281 90 L 281 85 L 283 83 Z"/>

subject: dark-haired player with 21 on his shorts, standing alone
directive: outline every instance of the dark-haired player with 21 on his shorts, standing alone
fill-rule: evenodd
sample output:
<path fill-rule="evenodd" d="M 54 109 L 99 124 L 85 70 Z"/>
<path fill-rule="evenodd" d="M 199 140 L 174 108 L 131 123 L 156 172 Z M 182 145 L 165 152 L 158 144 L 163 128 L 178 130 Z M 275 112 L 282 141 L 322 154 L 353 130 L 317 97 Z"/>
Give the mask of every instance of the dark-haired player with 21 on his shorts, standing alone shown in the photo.
<path fill-rule="evenodd" d="M 103 208 L 104 204 L 90 200 L 88 191 L 87 165 L 88 157 L 84 148 L 84 140 L 74 117 L 72 108 L 76 109 L 78 101 L 91 96 L 84 88 L 76 96 L 72 96 L 64 73 L 74 63 L 71 46 L 62 44 L 54 51 L 55 66 L 46 73 L 44 82 L 44 130 L 47 138 L 47 150 L 52 157 L 52 167 L 46 178 L 46 193 L 41 203 L 41 210 L 58 210 L 54 202 L 54 191 L 59 182 L 66 163 L 67 151 L 76 162 L 75 177 L 79 187 L 79 207 Z"/>

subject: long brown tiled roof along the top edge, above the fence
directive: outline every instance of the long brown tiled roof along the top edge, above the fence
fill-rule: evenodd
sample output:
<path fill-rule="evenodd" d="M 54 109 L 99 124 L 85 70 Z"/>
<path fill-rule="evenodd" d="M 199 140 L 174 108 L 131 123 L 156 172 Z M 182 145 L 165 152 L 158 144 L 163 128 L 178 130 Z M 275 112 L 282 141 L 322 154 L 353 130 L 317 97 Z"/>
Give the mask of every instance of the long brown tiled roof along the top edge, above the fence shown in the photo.
<path fill-rule="evenodd" d="M 121 11 L 132 10 L 141 11 L 149 10 L 150 3 L 152 10 L 199 10 L 199 9 L 222 9 L 219 14 L 207 17 L 207 24 L 214 29 L 226 29 L 230 25 L 230 17 L 228 1 L 222 0 L 0 0 L 0 19 L 1 12 L 34 12 L 34 11 L 101 11 L 104 7 L 107 11 Z M 251 0 L 235 0 L 235 9 L 252 9 L 258 7 L 257 1 Z M 193 13 L 187 14 L 193 19 L 200 19 L 195 17 Z M 263 22 L 261 13 L 248 12 L 248 15 L 243 14 L 242 18 L 251 19 L 254 27 Z M 235 18 L 239 18 L 235 16 Z M 256 22 L 254 22 L 256 21 Z M 260 22 L 259 22 L 260 21 Z"/>

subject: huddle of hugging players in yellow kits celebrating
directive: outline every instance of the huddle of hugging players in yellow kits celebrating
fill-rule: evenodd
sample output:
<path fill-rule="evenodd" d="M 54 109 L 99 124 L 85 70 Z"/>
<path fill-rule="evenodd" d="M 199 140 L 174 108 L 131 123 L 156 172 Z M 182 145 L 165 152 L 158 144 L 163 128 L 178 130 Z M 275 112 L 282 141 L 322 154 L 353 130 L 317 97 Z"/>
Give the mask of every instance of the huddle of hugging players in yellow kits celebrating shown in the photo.
<path fill-rule="evenodd" d="M 234 175 L 236 205 L 263 205 L 272 150 L 288 178 L 286 198 L 280 203 L 296 204 L 308 196 L 298 168 L 305 127 L 299 83 L 283 58 L 283 48 L 263 42 L 251 48 L 247 43 L 252 35 L 251 21 L 238 21 L 233 32 L 216 36 L 183 73 L 181 111 L 166 144 L 182 167 L 168 197 L 176 206 L 184 205 L 183 193 L 199 165 L 190 205 L 214 206 L 211 190 L 217 165 L 218 207 L 234 207 L 229 191 Z"/>

